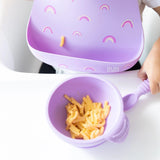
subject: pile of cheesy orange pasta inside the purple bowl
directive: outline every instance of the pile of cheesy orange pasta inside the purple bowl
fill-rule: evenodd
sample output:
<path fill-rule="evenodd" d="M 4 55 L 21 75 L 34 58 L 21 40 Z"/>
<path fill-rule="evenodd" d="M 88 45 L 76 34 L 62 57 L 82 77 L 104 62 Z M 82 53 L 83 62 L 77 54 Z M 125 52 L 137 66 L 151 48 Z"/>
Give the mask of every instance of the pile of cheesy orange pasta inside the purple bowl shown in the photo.
<path fill-rule="evenodd" d="M 83 97 L 82 104 L 67 95 L 64 97 L 69 101 L 66 105 L 66 130 L 70 131 L 72 138 L 88 140 L 103 134 L 111 109 L 107 101 L 103 108 L 101 103 L 93 102 L 88 95 Z"/>

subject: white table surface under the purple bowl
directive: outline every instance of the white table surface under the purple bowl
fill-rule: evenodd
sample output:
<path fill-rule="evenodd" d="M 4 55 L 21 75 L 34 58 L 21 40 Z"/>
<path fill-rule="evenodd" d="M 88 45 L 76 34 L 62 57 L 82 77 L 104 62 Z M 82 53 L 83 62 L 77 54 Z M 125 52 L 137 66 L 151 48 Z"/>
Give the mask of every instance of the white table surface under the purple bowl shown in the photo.
<path fill-rule="evenodd" d="M 105 142 L 83 149 L 57 138 L 47 120 L 47 101 L 54 88 L 70 76 L 19 73 L 0 63 L 0 159 L 160 159 L 160 94 L 140 97 L 126 112 L 130 130 L 123 143 Z M 122 96 L 141 83 L 137 71 L 96 76 L 111 81 Z"/>

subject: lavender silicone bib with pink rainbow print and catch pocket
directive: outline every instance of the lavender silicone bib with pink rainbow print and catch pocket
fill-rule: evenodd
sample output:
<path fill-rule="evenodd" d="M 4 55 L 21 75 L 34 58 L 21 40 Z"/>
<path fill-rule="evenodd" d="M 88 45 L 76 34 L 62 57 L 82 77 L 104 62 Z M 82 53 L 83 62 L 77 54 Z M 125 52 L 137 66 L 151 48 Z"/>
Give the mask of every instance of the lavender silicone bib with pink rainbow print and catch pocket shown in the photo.
<path fill-rule="evenodd" d="M 59 46 L 61 36 L 65 37 L 63 47 Z M 55 67 L 122 72 L 143 51 L 138 1 L 34 0 L 27 42 L 35 57 Z"/>

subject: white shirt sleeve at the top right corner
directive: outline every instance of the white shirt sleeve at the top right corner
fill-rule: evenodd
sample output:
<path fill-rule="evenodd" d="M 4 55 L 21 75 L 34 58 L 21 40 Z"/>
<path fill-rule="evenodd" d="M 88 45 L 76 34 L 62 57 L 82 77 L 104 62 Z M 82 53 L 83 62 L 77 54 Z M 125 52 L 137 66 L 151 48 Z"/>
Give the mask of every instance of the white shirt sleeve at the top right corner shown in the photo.
<path fill-rule="evenodd" d="M 140 13 L 142 14 L 145 5 L 151 8 L 156 8 L 160 6 L 160 0 L 138 0 Z"/>

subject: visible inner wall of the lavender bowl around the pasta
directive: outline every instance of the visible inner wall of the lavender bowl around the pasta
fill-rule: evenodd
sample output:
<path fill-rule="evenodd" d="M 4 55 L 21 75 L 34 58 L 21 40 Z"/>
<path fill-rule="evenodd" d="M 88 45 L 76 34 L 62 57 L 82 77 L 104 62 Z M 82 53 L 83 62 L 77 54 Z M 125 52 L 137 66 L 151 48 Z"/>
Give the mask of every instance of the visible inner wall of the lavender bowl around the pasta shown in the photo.
<path fill-rule="evenodd" d="M 69 79 L 54 91 L 48 106 L 51 124 L 60 134 L 67 137 L 70 137 L 65 125 L 67 118 L 65 105 L 68 101 L 64 98 L 64 94 L 75 98 L 78 102 L 82 102 L 82 97 L 86 95 L 89 95 L 94 102 L 101 102 L 102 104 L 107 100 L 111 106 L 111 111 L 107 119 L 105 135 L 114 130 L 123 114 L 121 96 L 110 82 L 83 76 Z"/>

